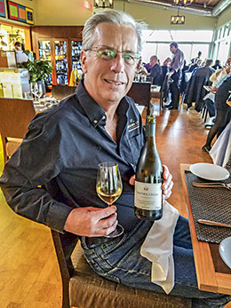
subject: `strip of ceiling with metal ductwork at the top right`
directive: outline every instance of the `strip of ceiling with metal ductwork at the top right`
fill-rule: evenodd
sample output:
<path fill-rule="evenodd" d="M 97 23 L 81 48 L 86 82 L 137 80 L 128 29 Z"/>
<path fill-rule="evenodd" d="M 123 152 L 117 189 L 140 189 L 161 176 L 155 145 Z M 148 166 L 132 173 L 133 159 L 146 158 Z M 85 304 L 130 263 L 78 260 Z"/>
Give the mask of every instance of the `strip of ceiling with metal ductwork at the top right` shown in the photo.
<path fill-rule="evenodd" d="M 171 10 L 178 9 L 178 7 L 172 6 L 172 0 L 128 0 L 128 2 Z M 231 0 L 193 0 L 193 3 L 186 7 L 180 6 L 180 11 L 204 16 L 219 16 L 230 4 Z"/>

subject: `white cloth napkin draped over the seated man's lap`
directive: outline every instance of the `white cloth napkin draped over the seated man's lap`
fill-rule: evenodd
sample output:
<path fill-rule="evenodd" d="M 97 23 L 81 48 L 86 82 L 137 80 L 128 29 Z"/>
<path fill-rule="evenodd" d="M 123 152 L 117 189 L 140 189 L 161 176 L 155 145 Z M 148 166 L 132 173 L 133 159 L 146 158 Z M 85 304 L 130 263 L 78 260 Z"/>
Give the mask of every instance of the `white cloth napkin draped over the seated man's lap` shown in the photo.
<path fill-rule="evenodd" d="M 140 254 L 152 262 L 151 281 L 169 294 L 174 287 L 173 233 L 179 211 L 163 201 L 163 217 L 155 221 L 140 249 Z"/>

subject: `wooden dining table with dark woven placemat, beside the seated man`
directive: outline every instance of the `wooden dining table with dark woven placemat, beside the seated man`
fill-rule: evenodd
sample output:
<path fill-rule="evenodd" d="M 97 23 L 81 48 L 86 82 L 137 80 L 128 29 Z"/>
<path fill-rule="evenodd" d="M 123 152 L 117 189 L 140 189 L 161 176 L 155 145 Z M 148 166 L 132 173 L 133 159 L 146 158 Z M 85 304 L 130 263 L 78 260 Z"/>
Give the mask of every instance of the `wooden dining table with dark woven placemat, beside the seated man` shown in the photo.
<path fill-rule="evenodd" d="M 203 183 L 208 180 L 198 178 L 190 172 L 190 164 L 181 163 L 180 173 L 186 198 L 198 288 L 203 291 L 231 295 L 231 268 L 225 264 L 219 254 L 219 243 L 231 236 L 231 228 L 198 223 L 198 217 L 213 220 L 214 217 L 223 216 L 229 219 L 226 216 L 231 215 L 231 192 L 220 187 L 192 186 L 193 181 Z M 230 180 L 231 178 L 227 179 L 229 182 Z M 206 207 L 209 209 L 207 212 Z"/>

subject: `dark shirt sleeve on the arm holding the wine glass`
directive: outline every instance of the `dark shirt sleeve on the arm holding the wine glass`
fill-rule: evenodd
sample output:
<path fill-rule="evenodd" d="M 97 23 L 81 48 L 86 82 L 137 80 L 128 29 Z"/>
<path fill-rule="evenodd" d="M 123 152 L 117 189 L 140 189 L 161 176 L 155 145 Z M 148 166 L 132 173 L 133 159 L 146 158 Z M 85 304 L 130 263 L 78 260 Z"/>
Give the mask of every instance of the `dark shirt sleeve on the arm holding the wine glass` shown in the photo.
<path fill-rule="evenodd" d="M 31 124 L 22 144 L 6 162 L 0 186 L 14 212 L 63 232 L 72 208 L 53 200 L 42 188 L 62 169 L 59 137 L 55 126 L 47 130 L 44 125 Z"/>

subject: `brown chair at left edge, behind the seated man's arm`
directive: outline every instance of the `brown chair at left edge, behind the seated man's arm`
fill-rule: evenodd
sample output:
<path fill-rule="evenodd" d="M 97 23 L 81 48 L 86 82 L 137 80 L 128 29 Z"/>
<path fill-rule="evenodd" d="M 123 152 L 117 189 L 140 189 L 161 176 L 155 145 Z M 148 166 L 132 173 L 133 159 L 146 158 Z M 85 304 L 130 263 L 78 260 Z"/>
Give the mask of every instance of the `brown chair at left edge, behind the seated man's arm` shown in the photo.
<path fill-rule="evenodd" d="M 36 115 L 32 99 L 0 99 L 0 134 L 4 162 L 20 146 L 28 131 L 28 123 Z"/>

